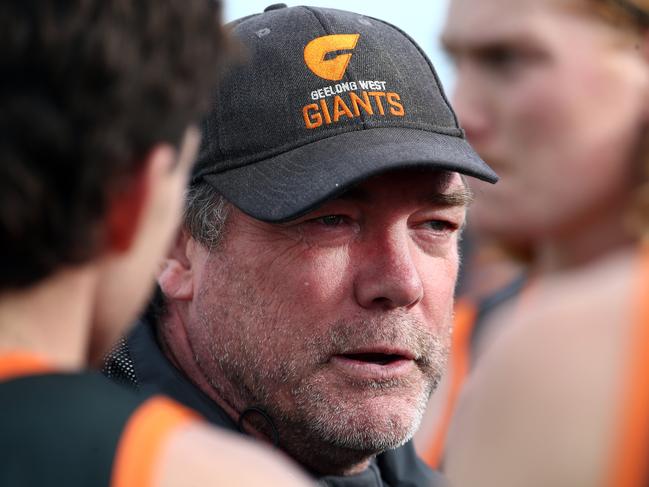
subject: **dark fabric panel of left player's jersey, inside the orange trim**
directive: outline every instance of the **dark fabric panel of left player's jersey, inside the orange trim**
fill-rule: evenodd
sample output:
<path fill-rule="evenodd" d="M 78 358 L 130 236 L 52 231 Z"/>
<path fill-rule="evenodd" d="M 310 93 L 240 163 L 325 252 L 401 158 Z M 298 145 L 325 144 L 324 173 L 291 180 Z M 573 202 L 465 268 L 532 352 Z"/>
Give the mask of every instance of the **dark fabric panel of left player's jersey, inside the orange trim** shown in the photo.
<path fill-rule="evenodd" d="M 96 372 L 0 381 L 0 485 L 108 487 L 124 427 L 145 399 Z"/>

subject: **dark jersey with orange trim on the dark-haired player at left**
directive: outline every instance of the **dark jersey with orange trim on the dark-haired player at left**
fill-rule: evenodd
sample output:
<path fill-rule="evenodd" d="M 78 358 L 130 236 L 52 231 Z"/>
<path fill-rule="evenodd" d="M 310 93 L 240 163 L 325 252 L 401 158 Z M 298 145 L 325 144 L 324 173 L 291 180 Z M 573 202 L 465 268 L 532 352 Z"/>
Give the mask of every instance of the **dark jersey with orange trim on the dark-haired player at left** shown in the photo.
<path fill-rule="evenodd" d="M 176 428 L 196 415 L 99 373 L 0 356 L 0 485 L 147 487 Z"/>

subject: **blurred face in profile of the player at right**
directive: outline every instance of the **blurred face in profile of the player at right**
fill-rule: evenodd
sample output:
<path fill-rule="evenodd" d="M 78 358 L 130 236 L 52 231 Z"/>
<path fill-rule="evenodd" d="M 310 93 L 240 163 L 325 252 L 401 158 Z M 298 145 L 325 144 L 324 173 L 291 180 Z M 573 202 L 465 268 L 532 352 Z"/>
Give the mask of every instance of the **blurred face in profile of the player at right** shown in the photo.
<path fill-rule="evenodd" d="M 474 186 L 471 225 L 505 242 L 580 232 L 617 214 L 630 193 L 629 160 L 647 113 L 646 61 L 631 29 L 591 7 L 450 3 L 443 42 L 457 67 L 453 105 L 469 142 L 501 177 Z"/>

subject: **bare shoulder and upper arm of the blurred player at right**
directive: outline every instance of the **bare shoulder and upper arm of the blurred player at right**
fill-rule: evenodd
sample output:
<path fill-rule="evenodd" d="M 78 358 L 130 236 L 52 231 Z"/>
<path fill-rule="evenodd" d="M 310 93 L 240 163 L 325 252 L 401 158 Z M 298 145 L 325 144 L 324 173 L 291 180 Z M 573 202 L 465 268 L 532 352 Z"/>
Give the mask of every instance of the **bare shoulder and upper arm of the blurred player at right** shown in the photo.
<path fill-rule="evenodd" d="M 483 350 L 452 426 L 451 481 L 465 485 L 469 471 L 476 481 L 508 471 L 512 483 L 500 485 L 530 487 L 601 479 L 626 385 L 640 262 L 627 250 L 539 279 L 500 314 L 507 321 Z"/>

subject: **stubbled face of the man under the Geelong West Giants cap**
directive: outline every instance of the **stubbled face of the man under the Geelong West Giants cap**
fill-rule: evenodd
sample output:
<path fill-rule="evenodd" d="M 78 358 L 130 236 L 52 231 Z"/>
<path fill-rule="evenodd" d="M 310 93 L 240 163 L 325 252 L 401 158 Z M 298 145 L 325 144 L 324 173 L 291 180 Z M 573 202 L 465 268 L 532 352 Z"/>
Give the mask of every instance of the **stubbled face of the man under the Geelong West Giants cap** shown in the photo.
<path fill-rule="evenodd" d="M 286 224 L 234 210 L 195 257 L 203 374 L 237 410 L 264 408 L 307 465 L 403 443 L 444 365 L 467 199 L 457 174 L 397 172 Z"/>

